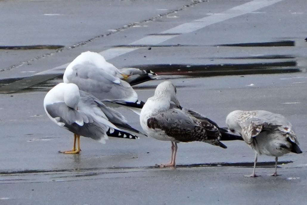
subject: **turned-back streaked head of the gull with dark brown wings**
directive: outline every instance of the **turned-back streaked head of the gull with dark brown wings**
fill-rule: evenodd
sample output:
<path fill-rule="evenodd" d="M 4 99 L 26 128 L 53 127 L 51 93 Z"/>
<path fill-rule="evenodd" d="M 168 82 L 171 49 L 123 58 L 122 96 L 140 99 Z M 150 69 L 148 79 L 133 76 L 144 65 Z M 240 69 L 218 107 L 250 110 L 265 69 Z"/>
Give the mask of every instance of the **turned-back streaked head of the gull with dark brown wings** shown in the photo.
<path fill-rule="evenodd" d="M 154 96 L 167 97 L 169 98 L 170 101 L 175 103 L 178 108 L 181 108 L 176 93 L 177 93 L 176 87 L 173 85 L 173 83 L 171 83 L 171 81 L 163 81 L 157 86 L 154 92 Z"/>

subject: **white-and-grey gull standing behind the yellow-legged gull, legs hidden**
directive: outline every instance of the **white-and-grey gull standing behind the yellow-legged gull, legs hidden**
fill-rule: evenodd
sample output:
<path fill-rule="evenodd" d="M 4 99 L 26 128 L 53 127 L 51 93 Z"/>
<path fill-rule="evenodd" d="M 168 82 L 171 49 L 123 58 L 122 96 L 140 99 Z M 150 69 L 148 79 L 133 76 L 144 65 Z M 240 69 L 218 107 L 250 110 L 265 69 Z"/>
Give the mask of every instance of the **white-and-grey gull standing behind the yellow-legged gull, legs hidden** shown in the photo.
<path fill-rule="evenodd" d="M 100 101 L 128 106 L 139 114 L 144 103 L 138 100 L 138 94 L 131 85 L 122 80 L 128 77 L 99 53 L 87 51 L 67 66 L 63 81 L 76 84 L 80 90 L 94 95 Z"/>

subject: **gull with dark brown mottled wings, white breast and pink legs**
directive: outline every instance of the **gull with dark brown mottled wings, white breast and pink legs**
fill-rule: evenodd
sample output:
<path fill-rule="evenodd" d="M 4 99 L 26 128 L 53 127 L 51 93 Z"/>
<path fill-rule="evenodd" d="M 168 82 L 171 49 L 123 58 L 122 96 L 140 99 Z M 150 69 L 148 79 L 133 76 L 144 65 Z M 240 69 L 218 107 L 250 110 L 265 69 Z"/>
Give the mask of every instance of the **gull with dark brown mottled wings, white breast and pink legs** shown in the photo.
<path fill-rule="evenodd" d="M 171 162 L 159 167 L 175 166 L 179 142 L 201 141 L 227 148 L 220 142 L 222 138 L 240 139 L 199 113 L 182 108 L 176 97 L 176 88 L 170 81 L 160 83 L 154 96 L 148 98 L 142 108 L 140 122 L 148 136 L 172 143 Z"/>

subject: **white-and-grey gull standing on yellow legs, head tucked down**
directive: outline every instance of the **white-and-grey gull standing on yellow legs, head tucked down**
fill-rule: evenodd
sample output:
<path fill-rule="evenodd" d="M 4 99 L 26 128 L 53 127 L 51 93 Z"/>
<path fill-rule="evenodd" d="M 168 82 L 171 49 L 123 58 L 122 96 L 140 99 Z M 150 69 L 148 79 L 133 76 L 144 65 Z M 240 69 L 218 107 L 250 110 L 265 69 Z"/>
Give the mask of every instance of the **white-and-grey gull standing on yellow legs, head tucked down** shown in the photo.
<path fill-rule="evenodd" d="M 60 83 L 53 87 L 45 96 L 44 108 L 54 123 L 74 133 L 72 150 L 63 151 L 65 154 L 76 154 L 81 151 L 80 136 L 105 144 L 108 136 L 137 139 L 136 135 L 142 135 L 127 124 L 119 112 L 79 90 L 73 83 Z"/>

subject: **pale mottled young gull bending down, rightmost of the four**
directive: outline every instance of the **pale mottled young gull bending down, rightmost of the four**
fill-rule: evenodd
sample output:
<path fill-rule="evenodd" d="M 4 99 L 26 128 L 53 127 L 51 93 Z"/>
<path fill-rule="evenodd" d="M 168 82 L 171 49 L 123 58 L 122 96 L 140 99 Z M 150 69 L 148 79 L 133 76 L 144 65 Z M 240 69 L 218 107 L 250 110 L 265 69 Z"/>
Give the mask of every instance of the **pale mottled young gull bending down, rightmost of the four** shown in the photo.
<path fill-rule="evenodd" d="M 256 153 L 254 170 L 248 177 L 259 176 L 255 174 L 258 154 L 275 156 L 275 172 L 272 176 L 278 176 L 279 156 L 289 152 L 302 153 L 292 124 L 280 114 L 265 110 L 235 110 L 228 114 L 226 124 L 231 132 L 240 134 Z"/>

